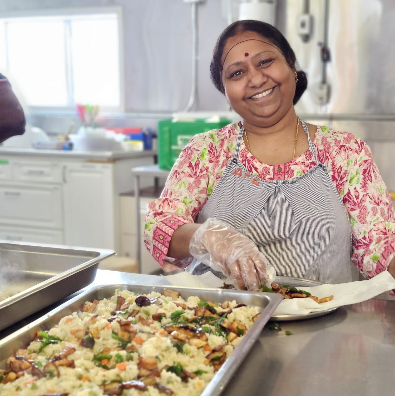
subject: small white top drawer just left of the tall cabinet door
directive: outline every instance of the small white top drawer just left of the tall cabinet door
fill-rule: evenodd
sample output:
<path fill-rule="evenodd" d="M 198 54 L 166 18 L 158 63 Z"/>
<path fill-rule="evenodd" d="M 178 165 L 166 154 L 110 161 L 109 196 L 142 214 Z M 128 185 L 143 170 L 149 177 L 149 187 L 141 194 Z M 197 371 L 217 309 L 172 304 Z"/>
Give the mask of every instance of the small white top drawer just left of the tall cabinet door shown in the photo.
<path fill-rule="evenodd" d="M 51 162 L 18 161 L 13 163 L 16 181 L 61 183 L 62 167 Z"/>

